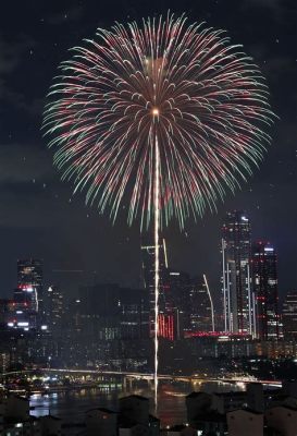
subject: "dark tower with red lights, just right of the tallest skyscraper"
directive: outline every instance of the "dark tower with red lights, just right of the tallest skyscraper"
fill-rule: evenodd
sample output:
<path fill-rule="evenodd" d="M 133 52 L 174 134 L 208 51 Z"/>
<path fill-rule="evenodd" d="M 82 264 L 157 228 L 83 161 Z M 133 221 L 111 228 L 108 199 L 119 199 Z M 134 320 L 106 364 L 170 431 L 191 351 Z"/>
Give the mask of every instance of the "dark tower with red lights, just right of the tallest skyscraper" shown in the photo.
<path fill-rule="evenodd" d="M 277 257 L 268 242 L 252 249 L 252 286 L 257 299 L 257 336 L 261 340 L 279 339 Z"/>

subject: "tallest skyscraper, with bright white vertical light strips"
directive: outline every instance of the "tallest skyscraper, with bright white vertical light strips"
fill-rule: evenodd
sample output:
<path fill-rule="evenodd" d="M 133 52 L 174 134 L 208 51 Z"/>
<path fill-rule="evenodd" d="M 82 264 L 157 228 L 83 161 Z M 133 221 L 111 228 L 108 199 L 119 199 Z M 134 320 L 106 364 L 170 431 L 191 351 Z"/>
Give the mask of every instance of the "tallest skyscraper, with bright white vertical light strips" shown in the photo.
<path fill-rule="evenodd" d="M 256 336 L 250 222 L 243 211 L 227 214 L 222 229 L 222 266 L 224 330 Z"/>

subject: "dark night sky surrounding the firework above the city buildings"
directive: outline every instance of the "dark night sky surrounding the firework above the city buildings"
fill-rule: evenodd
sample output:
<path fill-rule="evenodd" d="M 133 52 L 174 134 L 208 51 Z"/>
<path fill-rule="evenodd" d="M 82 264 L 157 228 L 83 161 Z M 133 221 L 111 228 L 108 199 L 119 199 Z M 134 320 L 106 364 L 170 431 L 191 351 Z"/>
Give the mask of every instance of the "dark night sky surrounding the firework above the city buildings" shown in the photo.
<path fill-rule="evenodd" d="M 226 211 L 245 209 L 253 239 L 267 239 L 279 252 L 280 293 L 297 289 L 296 0 L 85 0 L 9 1 L 0 16 L 0 295 L 12 295 L 16 259 L 41 257 L 45 276 L 75 292 L 83 281 L 140 286 L 140 233 L 137 223 L 114 226 L 85 206 L 83 194 L 60 181 L 52 152 L 40 133 L 45 96 L 67 49 L 114 21 L 185 12 L 193 21 L 224 28 L 244 44 L 268 80 L 280 120 L 272 146 L 252 179 L 228 194 L 218 214 L 180 233 L 165 231 L 170 266 L 206 272 L 219 293 L 220 229 Z M 60 274 L 53 270 L 83 270 Z"/>

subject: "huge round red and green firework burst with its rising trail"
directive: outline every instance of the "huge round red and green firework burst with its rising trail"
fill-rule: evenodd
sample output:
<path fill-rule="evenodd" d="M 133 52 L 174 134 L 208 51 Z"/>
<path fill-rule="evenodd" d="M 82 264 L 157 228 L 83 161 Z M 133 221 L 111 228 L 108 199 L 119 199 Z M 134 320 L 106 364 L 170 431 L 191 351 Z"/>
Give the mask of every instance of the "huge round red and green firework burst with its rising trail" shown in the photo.
<path fill-rule="evenodd" d="M 186 17 L 99 28 L 73 49 L 48 95 L 44 130 L 54 164 L 114 220 L 154 220 L 154 395 L 159 231 L 215 209 L 261 160 L 273 122 L 258 68 L 223 31 Z"/>

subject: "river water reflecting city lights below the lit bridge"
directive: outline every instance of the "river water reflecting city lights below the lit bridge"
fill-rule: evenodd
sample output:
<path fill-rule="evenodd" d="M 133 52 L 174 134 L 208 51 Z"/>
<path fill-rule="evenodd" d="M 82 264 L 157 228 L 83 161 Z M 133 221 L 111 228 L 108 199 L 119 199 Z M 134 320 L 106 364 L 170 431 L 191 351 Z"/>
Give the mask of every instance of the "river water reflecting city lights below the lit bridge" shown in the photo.
<path fill-rule="evenodd" d="M 185 397 L 191 391 L 223 392 L 243 390 L 243 387 L 216 382 L 195 382 L 194 384 L 174 382 L 160 383 L 158 415 L 162 426 L 186 422 Z M 97 388 L 70 390 L 49 395 L 33 395 L 30 397 L 32 414 L 42 416 L 52 414 L 64 423 L 79 423 L 85 419 L 86 411 L 104 407 L 117 410 L 119 398 L 136 393 L 150 399 L 153 414 L 152 385 L 144 380 L 102 380 Z"/>

